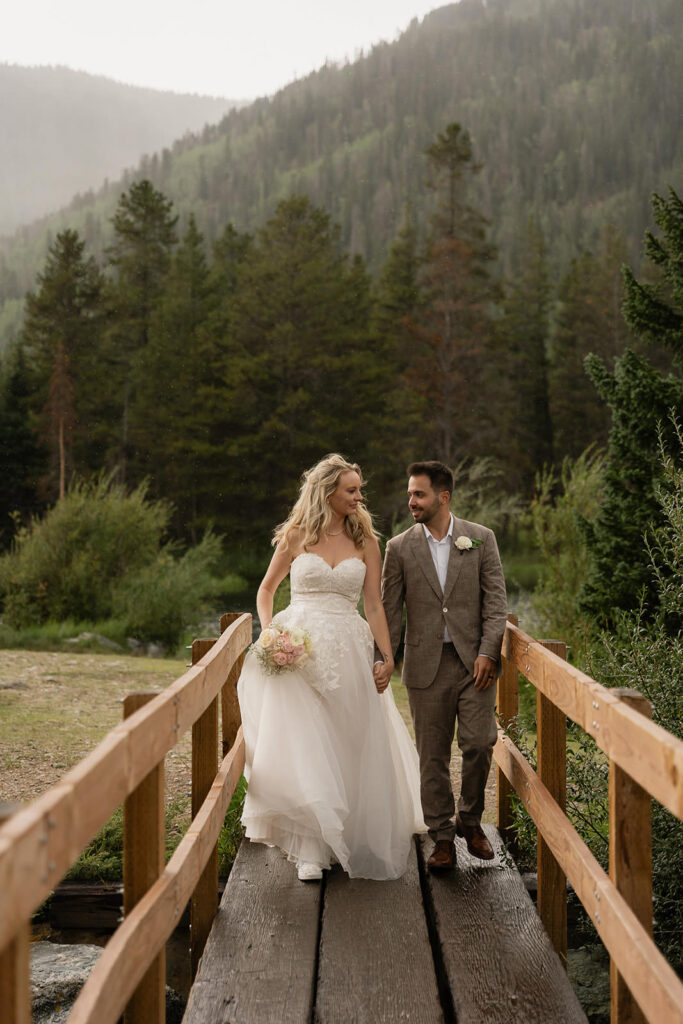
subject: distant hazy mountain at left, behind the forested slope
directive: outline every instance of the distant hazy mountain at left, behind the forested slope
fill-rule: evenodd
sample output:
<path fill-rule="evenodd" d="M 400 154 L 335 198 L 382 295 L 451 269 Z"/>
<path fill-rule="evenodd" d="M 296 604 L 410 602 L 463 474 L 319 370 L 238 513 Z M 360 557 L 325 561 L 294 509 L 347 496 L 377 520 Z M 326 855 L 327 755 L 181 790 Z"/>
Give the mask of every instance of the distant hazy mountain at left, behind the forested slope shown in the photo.
<path fill-rule="evenodd" d="M 0 234 L 120 177 L 234 103 L 69 68 L 0 65 Z"/>

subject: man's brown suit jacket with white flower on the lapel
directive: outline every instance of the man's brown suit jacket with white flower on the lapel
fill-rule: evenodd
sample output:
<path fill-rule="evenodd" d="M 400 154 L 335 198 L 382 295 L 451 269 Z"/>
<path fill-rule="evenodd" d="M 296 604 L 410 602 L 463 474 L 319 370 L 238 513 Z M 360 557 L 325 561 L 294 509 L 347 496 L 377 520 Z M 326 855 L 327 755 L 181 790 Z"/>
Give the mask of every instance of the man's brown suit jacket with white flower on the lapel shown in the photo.
<path fill-rule="evenodd" d="M 382 602 L 394 653 L 405 604 L 405 686 L 425 687 L 433 681 L 441 658 L 444 626 L 470 673 L 479 654 L 500 660 L 507 598 L 496 537 L 486 526 L 454 519 L 443 590 L 421 523 L 392 538 L 386 546 Z M 461 551 L 455 544 L 459 537 L 482 543 Z"/>

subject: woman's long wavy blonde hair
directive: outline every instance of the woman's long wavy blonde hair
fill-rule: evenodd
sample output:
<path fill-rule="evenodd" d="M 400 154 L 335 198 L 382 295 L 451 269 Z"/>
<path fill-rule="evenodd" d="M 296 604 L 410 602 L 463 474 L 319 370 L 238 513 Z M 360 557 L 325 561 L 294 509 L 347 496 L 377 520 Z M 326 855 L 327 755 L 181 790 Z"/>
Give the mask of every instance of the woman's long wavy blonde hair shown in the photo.
<path fill-rule="evenodd" d="M 329 499 L 337 489 L 342 473 L 349 471 L 357 473 L 360 482 L 365 482 L 360 467 L 336 453 L 326 455 L 325 459 L 321 459 L 311 469 L 306 470 L 301 478 L 299 497 L 294 508 L 273 534 L 273 547 L 281 541 L 287 542 L 293 529 L 300 531 L 302 547 L 308 548 L 317 544 L 332 522 Z M 377 537 L 373 518 L 365 505 L 358 505 L 352 515 L 346 516 L 344 530 L 356 548 L 362 548 L 369 537 Z"/>

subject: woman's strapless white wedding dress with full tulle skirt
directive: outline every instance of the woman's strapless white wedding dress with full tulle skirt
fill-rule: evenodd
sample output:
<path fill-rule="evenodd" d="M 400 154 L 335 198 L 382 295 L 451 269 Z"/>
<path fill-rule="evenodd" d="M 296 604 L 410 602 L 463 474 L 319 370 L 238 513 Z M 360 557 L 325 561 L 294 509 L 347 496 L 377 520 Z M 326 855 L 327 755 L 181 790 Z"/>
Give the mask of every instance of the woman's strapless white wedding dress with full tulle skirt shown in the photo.
<path fill-rule="evenodd" d="M 238 684 L 249 783 L 243 823 L 293 861 L 395 879 L 425 831 L 418 755 L 390 687 L 373 679 L 374 642 L 356 610 L 365 562 L 292 562 L 292 601 L 273 625 L 308 630 L 306 665 L 274 675 L 247 653 Z"/>

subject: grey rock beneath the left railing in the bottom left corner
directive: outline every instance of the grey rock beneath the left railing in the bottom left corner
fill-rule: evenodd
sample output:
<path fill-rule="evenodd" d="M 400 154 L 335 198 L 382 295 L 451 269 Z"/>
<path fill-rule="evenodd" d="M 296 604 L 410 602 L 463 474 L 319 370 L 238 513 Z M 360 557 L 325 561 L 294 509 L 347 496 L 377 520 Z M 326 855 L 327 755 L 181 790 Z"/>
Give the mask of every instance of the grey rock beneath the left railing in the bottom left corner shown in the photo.
<path fill-rule="evenodd" d="M 66 1024 L 101 952 L 99 946 L 31 943 L 33 1024 Z M 167 985 L 167 1024 L 180 1024 L 184 1009 L 184 1000 Z"/>

